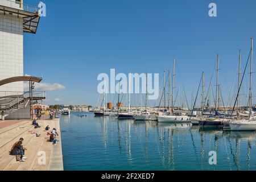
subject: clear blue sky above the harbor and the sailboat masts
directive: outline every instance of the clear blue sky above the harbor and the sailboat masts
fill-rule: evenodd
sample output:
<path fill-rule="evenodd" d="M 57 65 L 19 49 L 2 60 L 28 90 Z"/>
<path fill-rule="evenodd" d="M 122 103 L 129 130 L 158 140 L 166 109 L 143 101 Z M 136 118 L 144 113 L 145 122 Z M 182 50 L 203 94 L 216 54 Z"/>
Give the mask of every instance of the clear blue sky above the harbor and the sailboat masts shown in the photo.
<path fill-rule="evenodd" d="M 217 4 L 217 17 L 208 15 L 211 2 Z M 34 0 L 24 3 L 37 4 Z M 162 74 L 163 69 L 171 69 L 173 56 L 176 85 L 185 88 L 190 101 L 202 71 L 208 86 L 217 53 L 222 94 L 227 100 L 238 49 L 242 49 L 244 65 L 250 37 L 256 38 L 254 0 L 44 3 L 47 16 L 40 19 L 36 35 L 24 35 L 24 73 L 43 76 L 46 85 L 60 84 L 59 89 L 47 92 L 47 104 L 95 105 L 99 73 L 115 68 L 118 73 Z M 246 82 L 247 78 L 246 73 Z"/>

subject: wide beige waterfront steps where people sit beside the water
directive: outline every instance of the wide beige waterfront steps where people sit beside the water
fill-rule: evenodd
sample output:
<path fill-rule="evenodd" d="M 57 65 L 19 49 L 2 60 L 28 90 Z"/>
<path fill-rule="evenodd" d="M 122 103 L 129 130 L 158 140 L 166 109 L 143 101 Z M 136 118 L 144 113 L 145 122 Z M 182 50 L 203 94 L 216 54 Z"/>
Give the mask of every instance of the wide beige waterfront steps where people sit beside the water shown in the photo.
<path fill-rule="evenodd" d="M 59 120 L 38 121 L 41 126 L 39 129 L 34 129 L 31 123 L 27 120 L 0 129 L 0 171 L 63 170 Z M 47 125 L 51 129 L 57 129 L 59 142 L 56 146 L 49 142 L 47 131 L 44 131 Z M 32 132 L 39 133 L 40 137 L 36 137 Z M 19 138 L 24 138 L 23 146 L 27 148 L 25 162 L 16 162 L 15 156 L 9 154 L 11 147 Z"/>

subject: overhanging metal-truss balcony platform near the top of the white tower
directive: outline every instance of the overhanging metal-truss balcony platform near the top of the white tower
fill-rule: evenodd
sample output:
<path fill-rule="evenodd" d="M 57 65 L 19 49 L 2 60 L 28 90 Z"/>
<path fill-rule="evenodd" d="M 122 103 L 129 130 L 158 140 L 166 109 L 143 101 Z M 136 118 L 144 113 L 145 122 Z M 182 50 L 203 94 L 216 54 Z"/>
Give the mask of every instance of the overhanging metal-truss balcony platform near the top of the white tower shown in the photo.
<path fill-rule="evenodd" d="M 11 15 L 17 18 L 23 18 L 23 32 L 35 34 L 38 28 L 40 16 L 38 9 L 30 9 L 28 11 L 15 9 L 0 5 L 0 14 Z"/>

